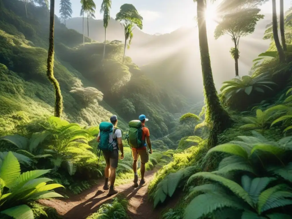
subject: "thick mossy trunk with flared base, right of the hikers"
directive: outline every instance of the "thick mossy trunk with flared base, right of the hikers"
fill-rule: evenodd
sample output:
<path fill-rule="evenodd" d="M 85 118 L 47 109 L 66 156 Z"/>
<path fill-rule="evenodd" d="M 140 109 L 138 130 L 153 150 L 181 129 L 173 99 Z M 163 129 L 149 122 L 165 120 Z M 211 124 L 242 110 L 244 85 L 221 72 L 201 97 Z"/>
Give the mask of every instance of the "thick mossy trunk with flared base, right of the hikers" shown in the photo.
<path fill-rule="evenodd" d="M 201 54 L 201 66 L 206 102 L 205 121 L 211 129 L 208 146 L 217 144 L 217 135 L 230 125 L 230 117 L 220 105 L 217 91 L 214 85 L 211 61 L 208 48 L 207 29 L 205 20 L 206 5 L 204 0 L 197 0 L 197 20 L 199 28 L 199 46 Z"/>

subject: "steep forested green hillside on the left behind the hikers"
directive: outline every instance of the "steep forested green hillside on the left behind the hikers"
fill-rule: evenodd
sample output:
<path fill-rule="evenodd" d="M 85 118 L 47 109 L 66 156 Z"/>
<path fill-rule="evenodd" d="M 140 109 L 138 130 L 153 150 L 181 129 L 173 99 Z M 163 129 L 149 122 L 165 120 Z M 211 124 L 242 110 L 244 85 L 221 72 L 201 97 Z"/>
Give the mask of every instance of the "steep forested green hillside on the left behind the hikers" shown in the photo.
<path fill-rule="evenodd" d="M 27 4 L 26 18 L 24 2 L 4 0 L 0 10 L 1 49 L 5 51 L 0 57 L 1 107 L 4 107 L 1 112 L 6 112 L 1 118 L 1 135 L 5 135 L 16 131 L 14 114 L 27 122 L 31 114 L 39 117 L 50 114 L 54 94 L 44 64 L 48 11 Z M 87 44 L 82 46 L 82 41 L 82 34 L 67 29 L 55 17 L 54 71 L 69 121 L 93 126 L 116 113 L 120 116 L 119 126 L 126 130 L 125 121 L 144 113 L 150 118 L 153 137 L 169 134 L 175 123 L 173 114 L 180 113 L 191 102 L 179 92 L 165 89 L 159 81 L 144 76 L 130 58 L 123 65 L 123 44 L 119 41 L 109 44 L 103 61 L 102 43 L 91 42 L 86 37 Z"/>

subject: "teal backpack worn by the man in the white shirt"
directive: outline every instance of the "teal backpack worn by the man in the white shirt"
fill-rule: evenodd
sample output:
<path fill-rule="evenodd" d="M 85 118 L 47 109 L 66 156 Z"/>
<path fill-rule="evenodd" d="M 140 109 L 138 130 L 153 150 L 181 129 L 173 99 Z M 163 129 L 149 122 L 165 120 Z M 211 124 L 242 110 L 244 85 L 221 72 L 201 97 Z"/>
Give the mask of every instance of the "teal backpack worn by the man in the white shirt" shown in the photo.
<path fill-rule="evenodd" d="M 111 122 L 101 122 L 99 124 L 99 133 L 100 133 L 100 141 L 99 141 L 99 149 L 102 151 L 113 151 L 114 144 L 117 145 L 117 139 L 113 139 L 111 143 L 109 143 L 109 136 L 114 135 L 117 128 Z"/>

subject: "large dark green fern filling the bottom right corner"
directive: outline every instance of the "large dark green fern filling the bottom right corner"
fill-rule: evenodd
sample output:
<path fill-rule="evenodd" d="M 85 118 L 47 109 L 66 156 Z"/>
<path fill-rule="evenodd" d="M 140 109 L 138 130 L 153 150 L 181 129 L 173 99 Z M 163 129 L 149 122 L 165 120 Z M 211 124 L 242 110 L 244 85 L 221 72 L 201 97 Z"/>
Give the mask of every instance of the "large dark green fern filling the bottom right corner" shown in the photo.
<path fill-rule="evenodd" d="M 215 183 L 204 184 L 190 190 L 186 200 L 192 201 L 185 209 L 185 219 L 205 218 L 221 211 L 223 218 L 233 218 L 232 215 L 242 212 L 241 218 L 277 218 L 277 215 L 288 217 L 280 212 L 271 213 L 274 208 L 289 206 L 292 203 L 292 192 L 285 184 L 270 187 L 276 178 L 250 178 L 243 175 L 241 185 L 213 173 L 202 172 L 192 175 L 203 177 Z M 231 191 L 231 193 L 230 193 Z M 233 211 L 224 211 L 231 208 Z M 284 218 L 285 218 L 284 217 Z M 289 216 L 291 218 L 291 215 Z M 217 217 L 215 217 L 217 218 Z"/>

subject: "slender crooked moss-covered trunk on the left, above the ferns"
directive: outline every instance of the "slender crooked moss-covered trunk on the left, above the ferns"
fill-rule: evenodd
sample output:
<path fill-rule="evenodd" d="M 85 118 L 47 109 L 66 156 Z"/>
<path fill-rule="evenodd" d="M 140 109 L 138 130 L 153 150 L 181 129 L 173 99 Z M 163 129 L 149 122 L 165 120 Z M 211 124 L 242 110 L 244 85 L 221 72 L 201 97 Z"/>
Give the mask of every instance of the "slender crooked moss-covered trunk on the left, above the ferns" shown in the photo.
<path fill-rule="evenodd" d="M 49 35 L 49 49 L 47 60 L 47 77 L 53 84 L 55 89 L 55 117 L 60 117 L 63 111 L 63 98 L 59 82 L 54 77 L 54 16 L 55 16 L 55 0 L 50 3 L 50 35 Z"/>

